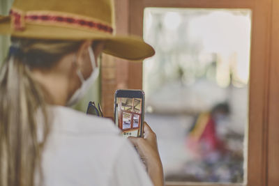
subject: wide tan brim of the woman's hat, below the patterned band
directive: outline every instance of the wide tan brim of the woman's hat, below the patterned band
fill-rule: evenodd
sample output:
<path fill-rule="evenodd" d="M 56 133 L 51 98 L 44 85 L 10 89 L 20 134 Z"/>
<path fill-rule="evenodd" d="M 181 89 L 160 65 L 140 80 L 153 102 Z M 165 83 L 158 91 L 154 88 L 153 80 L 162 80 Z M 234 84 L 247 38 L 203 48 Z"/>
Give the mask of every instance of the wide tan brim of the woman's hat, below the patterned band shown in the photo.
<path fill-rule="evenodd" d="M 153 47 L 137 36 L 113 36 L 98 31 L 38 24 L 27 24 L 24 31 L 13 31 L 10 25 L 10 17 L 0 16 L 0 33 L 3 35 L 51 40 L 104 40 L 104 53 L 132 61 L 140 61 L 155 54 Z"/>

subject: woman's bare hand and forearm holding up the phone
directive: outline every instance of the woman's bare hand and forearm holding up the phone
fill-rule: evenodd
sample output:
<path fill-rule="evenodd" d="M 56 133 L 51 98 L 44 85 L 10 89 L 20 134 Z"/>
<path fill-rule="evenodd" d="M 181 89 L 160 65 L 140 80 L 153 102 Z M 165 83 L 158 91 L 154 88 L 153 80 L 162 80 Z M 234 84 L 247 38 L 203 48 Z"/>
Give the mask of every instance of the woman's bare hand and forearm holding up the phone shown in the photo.
<path fill-rule="evenodd" d="M 137 148 L 154 186 L 164 185 L 163 166 L 158 152 L 157 138 L 151 127 L 144 122 L 144 137 L 128 137 Z"/>

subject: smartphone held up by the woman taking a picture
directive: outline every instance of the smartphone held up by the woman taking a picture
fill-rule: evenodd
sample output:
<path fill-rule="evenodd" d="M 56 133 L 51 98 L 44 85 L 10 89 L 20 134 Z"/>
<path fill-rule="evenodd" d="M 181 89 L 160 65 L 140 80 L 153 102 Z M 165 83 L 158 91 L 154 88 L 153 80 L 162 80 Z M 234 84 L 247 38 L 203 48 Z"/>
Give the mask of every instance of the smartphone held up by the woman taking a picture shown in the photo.
<path fill-rule="evenodd" d="M 123 137 L 142 137 L 144 91 L 117 90 L 114 97 L 114 123 Z"/>

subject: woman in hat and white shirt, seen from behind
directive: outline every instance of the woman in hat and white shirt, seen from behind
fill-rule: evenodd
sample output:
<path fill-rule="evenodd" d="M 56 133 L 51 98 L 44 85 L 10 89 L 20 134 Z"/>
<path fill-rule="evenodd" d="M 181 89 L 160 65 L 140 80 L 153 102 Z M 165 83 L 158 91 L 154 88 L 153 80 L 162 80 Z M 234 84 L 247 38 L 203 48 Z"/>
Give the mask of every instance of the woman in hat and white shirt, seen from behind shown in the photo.
<path fill-rule="evenodd" d="M 112 25 L 109 0 L 15 0 L 0 17 L 0 33 L 12 36 L 0 70 L 1 186 L 164 184 L 149 125 L 130 143 L 110 120 L 66 107 L 98 76 L 101 52 L 154 54 Z"/>

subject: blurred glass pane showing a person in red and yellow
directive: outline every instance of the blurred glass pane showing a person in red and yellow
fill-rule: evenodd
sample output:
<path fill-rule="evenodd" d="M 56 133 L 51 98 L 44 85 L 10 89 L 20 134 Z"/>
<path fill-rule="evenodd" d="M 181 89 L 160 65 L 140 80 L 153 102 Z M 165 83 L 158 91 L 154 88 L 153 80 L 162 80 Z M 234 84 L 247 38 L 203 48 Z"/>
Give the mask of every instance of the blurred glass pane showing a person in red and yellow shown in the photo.
<path fill-rule="evenodd" d="M 145 120 L 167 181 L 243 183 L 251 11 L 146 8 Z"/>

